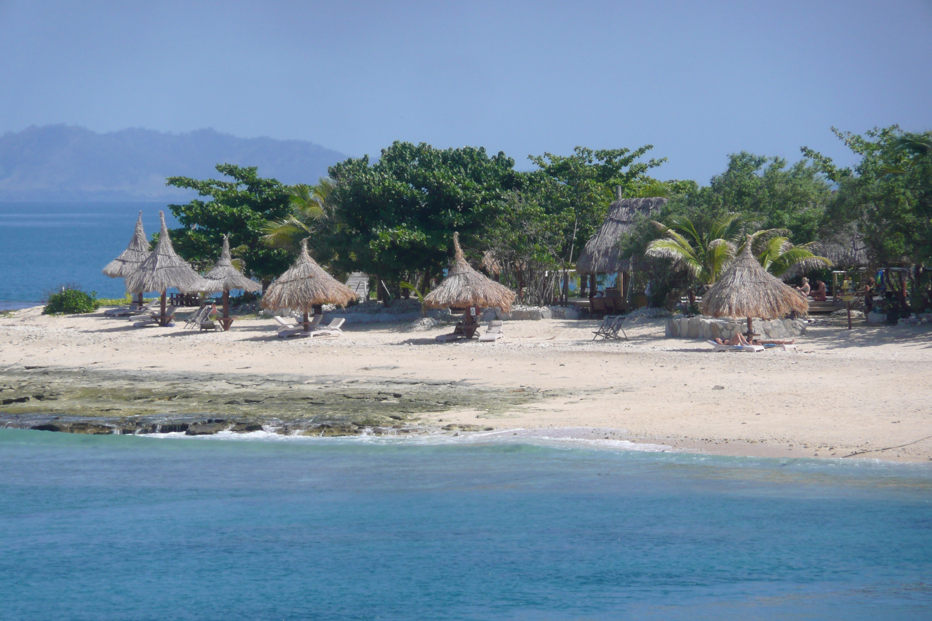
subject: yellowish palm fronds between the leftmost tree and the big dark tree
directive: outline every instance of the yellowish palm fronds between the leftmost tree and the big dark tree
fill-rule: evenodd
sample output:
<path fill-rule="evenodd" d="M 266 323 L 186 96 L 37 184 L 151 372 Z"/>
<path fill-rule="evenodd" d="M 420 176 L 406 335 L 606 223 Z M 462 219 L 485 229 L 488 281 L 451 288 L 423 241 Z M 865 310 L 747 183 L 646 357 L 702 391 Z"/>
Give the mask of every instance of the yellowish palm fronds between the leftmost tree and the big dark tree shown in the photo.
<path fill-rule="evenodd" d="M 301 240 L 314 236 L 321 229 L 321 224 L 329 220 L 332 214 L 330 196 L 333 194 L 334 182 L 321 179 L 317 185 L 298 183 L 286 191 L 292 204 L 290 216 L 267 223 L 263 227 L 266 235 L 262 240 L 274 248 L 283 248 L 297 252 Z"/>

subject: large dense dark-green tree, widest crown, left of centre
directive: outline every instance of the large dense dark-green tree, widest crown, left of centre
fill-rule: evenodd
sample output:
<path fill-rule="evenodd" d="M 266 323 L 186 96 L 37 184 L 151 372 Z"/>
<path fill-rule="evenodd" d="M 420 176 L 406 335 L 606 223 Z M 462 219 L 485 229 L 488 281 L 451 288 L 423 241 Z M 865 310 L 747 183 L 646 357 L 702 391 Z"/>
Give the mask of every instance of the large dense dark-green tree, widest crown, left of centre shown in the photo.
<path fill-rule="evenodd" d="M 366 155 L 328 171 L 336 183 L 336 222 L 328 241 L 335 263 L 395 285 L 417 272 L 421 291 L 449 263 L 453 232 L 459 231 L 464 247 L 482 247 L 503 196 L 524 181 L 503 153 L 410 142 L 393 142 L 376 164 Z"/>

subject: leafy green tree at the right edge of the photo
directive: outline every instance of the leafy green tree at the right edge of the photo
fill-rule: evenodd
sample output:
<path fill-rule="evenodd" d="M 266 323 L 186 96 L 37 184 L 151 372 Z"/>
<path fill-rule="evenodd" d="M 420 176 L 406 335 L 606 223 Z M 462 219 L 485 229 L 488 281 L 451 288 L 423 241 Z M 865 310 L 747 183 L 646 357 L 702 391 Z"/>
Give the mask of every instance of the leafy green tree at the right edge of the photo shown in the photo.
<path fill-rule="evenodd" d="M 831 158 L 802 147 L 839 186 L 827 227 L 857 223 L 875 263 L 932 260 L 932 132 L 904 132 L 896 125 L 863 136 L 832 131 L 861 159 L 853 169 L 838 169 Z"/>

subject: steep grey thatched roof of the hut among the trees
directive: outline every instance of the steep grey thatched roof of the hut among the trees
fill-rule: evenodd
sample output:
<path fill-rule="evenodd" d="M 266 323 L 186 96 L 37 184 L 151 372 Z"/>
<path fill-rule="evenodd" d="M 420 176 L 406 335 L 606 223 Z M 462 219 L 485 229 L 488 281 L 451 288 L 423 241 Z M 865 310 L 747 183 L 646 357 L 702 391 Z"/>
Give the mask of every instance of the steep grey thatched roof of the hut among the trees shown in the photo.
<path fill-rule="evenodd" d="M 638 215 L 650 218 L 666 204 L 666 198 L 622 198 L 609 208 L 609 215 L 596 235 L 585 243 L 576 261 L 577 274 L 612 274 L 627 272 L 631 262 L 619 256 L 618 242 L 634 227 Z"/>

